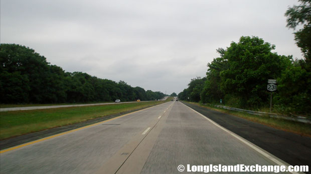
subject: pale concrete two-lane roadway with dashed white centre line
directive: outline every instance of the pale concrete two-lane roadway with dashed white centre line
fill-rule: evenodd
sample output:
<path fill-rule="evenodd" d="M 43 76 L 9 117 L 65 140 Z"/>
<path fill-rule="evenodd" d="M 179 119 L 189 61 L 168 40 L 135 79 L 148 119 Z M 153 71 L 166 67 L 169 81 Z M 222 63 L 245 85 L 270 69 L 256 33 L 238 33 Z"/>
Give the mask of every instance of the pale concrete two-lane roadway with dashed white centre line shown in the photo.
<path fill-rule="evenodd" d="M 0 164 L 0 173 L 184 173 L 181 164 L 288 165 L 179 101 L 3 150 Z"/>

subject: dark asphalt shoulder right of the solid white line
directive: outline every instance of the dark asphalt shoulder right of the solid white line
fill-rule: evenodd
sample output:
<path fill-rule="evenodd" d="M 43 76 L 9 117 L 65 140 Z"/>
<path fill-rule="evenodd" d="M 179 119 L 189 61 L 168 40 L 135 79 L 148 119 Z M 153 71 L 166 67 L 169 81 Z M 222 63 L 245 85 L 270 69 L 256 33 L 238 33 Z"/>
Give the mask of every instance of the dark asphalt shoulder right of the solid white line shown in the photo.
<path fill-rule="evenodd" d="M 311 138 L 183 102 L 291 165 L 311 165 Z"/>

